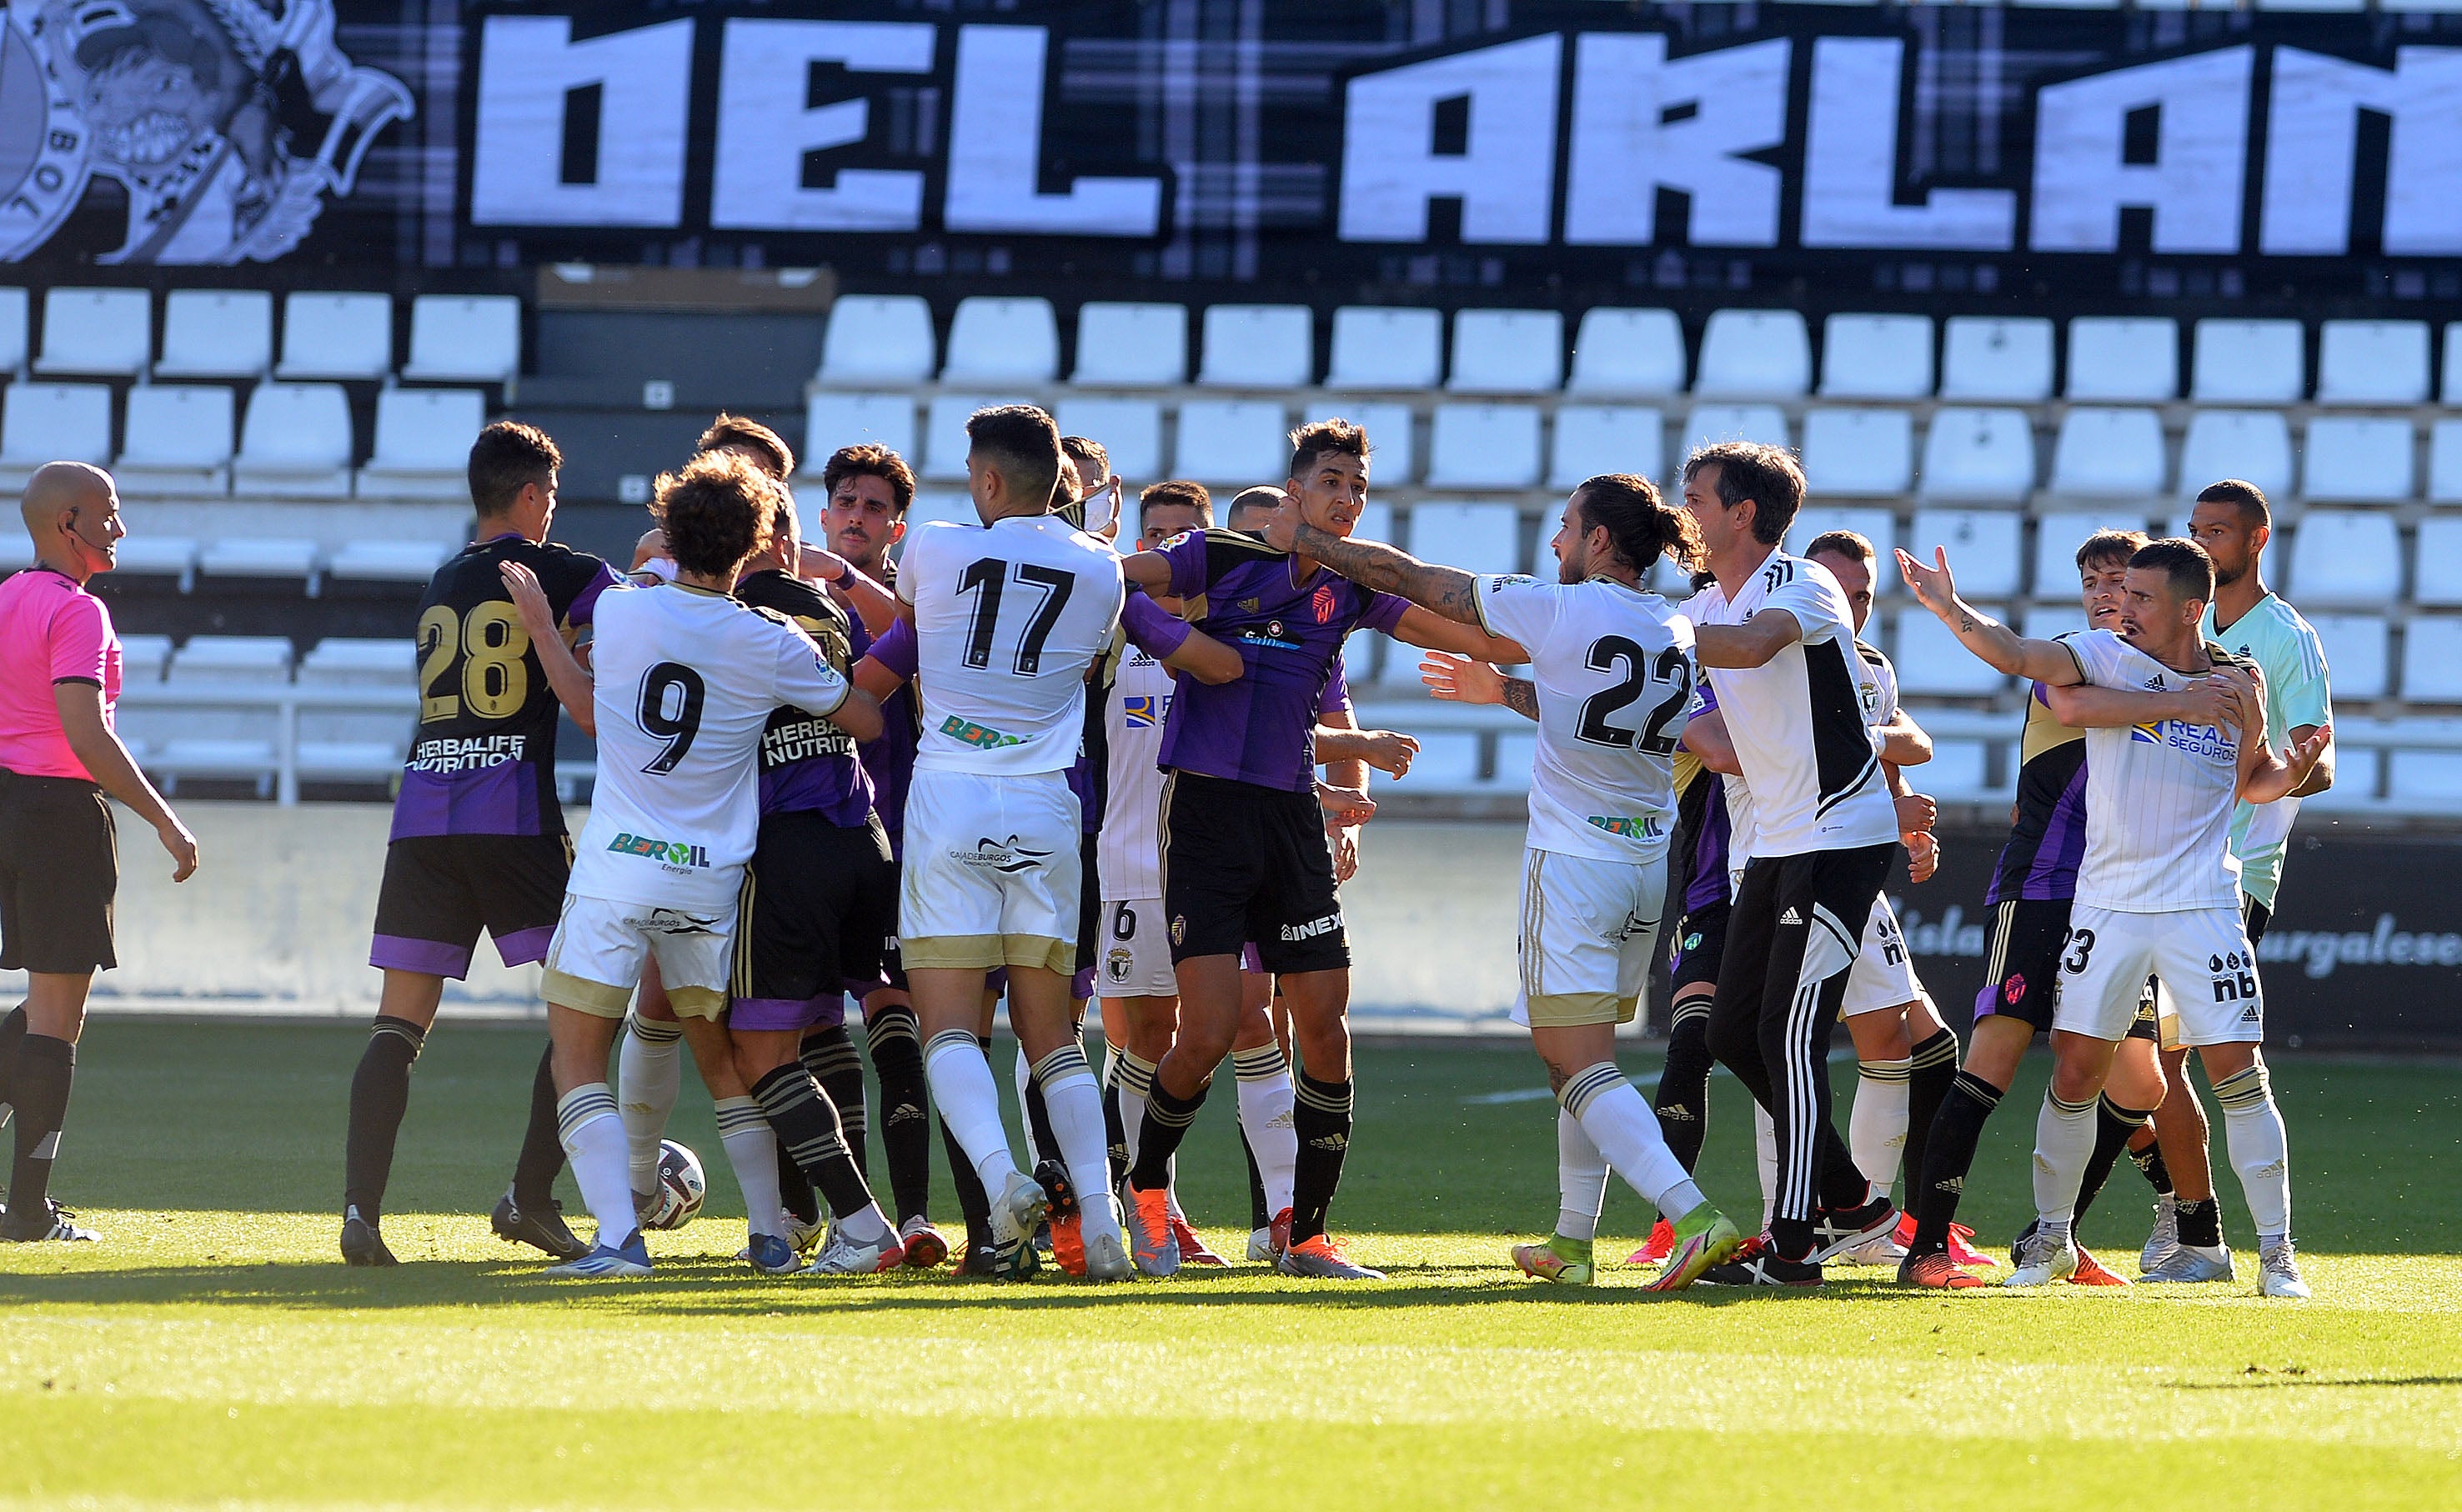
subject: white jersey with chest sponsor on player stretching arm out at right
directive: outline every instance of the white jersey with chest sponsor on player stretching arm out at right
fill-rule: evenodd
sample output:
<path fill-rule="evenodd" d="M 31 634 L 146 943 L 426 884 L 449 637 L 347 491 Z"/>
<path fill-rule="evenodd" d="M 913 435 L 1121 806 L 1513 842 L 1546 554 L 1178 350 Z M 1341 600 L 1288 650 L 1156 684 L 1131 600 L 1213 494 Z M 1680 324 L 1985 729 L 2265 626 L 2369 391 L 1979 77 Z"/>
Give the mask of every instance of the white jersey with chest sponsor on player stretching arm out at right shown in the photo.
<path fill-rule="evenodd" d="M 2171 692 L 2201 677 L 2174 672 L 2110 630 L 2063 635 L 2061 645 L 2095 687 Z M 2122 914 L 2238 909 L 2238 783 L 2240 741 L 2231 729 L 2186 719 L 2088 729 L 2078 901 Z"/>

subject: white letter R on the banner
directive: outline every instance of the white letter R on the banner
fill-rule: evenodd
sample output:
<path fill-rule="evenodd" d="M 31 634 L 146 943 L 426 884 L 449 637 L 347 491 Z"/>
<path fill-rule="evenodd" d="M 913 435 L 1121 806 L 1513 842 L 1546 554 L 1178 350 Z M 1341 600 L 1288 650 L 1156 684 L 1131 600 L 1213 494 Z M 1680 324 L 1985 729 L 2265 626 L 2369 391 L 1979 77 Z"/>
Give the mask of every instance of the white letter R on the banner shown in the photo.
<path fill-rule="evenodd" d="M 1775 37 L 1667 62 L 1667 37 L 1583 32 L 1563 239 L 1647 246 L 1667 187 L 1691 195 L 1694 246 L 1778 246 L 1780 175 L 1741 155 L 1787 140 L 1787 49 Z"/>

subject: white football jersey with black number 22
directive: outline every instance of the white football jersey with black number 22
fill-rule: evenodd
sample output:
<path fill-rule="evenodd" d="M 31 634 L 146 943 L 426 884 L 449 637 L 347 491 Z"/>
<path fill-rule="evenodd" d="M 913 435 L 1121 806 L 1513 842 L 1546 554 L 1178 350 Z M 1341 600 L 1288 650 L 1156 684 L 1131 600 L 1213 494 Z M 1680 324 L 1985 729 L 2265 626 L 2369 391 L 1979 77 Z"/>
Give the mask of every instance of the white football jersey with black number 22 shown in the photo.
<path fill-rule="evenodd" d="M 1694 702 L 1691 621 L 1615 579 L 1475 579 L 1490 635 L 1531 653 L 1539 758 L 1531 850 L 1650 864 L 1674 830 L 1677 741 Z"/>

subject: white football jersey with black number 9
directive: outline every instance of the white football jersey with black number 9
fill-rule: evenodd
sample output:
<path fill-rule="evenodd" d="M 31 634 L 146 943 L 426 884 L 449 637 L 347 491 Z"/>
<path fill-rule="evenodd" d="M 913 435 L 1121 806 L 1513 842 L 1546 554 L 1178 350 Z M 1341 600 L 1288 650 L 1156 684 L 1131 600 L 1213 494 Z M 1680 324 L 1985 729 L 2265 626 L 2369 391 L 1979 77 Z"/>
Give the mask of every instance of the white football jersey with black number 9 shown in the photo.
<path fill-rule="evenodd" d="M 778 704 L 835 714 L 847 680 L 785 618 L 660 584 L 598 601 L 598 786 L 571 891 L 724 909 L 761 835 L 761 731 Z"/>

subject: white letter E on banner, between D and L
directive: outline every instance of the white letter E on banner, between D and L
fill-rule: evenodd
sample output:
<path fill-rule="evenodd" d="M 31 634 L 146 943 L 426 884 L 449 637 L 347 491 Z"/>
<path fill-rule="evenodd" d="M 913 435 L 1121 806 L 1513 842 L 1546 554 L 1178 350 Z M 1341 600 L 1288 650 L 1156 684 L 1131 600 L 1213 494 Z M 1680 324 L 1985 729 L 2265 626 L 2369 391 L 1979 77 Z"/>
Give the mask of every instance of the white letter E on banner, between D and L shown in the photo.
<path fill-rule="evenodd" d="M 719 47 L 719 140 L 709 224 L 778 231 L 913 231 L 923 175 L 840 167 L 827 190 L 803 185 L 808 153 L 847 148 L 872 131 L 869 101 L 805 108 L 812 64 L 864 74 L 931 74 L 938 27 L 926 22 L 729 20 Z"/>

